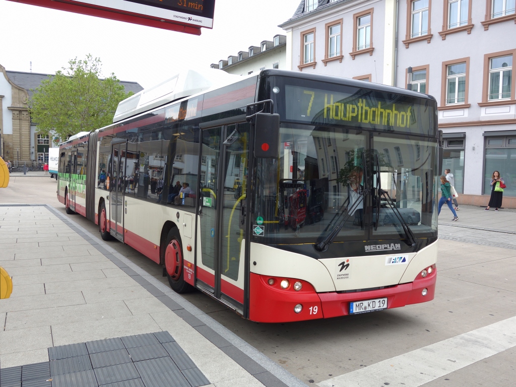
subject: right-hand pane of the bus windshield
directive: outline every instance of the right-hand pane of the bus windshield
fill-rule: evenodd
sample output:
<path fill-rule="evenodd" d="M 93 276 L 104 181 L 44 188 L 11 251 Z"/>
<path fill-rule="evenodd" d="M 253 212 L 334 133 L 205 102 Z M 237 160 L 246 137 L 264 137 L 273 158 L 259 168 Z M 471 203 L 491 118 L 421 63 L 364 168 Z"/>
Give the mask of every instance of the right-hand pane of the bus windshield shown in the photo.
<path fill-rule="evenodd" d="M 417 150 L 419 147 L 419 151 Z M 389 162 L 385 150 L 396 154 L 397 165 Z M 437 176 L 434 175 L 432 166 L 436 158 L 436 144 L 407 138 L 385 138 L 374 137 L 373 152 L 378 156 L 379 172 L 373 166 L 373 187 L 381 187 L 386 190 L 393 200 L 389 203 L 381 197 L 379 211 L 376 205 L 373 207 L 373 222 L 377 229 L 373 235 L 391 234 L 393 237 L 405 235 L 401 227 L 401 221 L 397 216 L 396 209 L 402 219 L 409 225 L 414 234 L 429 233 L 437 230 L 437 211 L 433 198 L 436 192 L 432 191 L 432 184 Z M 419 157 L 417 154 L 419 153 Z M 400 163 L 400 160 L 403 160 Z M 378 181 L 378 176 L 380 177 Z M 376 198 L 374 204 L 376 204 Z M 377 216 L 378 214 L 378 216 Z"/>

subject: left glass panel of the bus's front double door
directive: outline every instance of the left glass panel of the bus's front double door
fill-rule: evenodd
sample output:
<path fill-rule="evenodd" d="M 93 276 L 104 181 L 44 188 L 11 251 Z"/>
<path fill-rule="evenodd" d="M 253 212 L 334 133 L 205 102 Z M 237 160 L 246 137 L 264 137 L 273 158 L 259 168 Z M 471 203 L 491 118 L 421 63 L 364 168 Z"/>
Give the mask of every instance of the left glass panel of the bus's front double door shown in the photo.
<path fill-rule="evenodd" d="M 205 174 L 201 183 L 201 260 L 204 266 L 215 270 L 216 224 L 217 224 L 217 181 L 220 138 L 222 127 L 206 129 L 202 132 L 201 174 Z"/>

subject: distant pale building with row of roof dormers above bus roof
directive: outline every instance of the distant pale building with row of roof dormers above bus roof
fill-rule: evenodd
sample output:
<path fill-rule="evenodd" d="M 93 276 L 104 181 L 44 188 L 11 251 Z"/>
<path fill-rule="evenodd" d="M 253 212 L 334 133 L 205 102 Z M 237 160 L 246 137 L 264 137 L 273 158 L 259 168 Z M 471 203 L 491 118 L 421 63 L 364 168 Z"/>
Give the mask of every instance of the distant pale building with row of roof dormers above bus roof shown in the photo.
<path fill-rule="evenodd" d="M 246 51 L 213 63 L 211 68 L 235 75 L 249 75 L 265 69 L 286 70 L 286 57 L 286 36 L 276 35 L 271 41 L 262 41 L 260 46 L 250 46 Z"/>

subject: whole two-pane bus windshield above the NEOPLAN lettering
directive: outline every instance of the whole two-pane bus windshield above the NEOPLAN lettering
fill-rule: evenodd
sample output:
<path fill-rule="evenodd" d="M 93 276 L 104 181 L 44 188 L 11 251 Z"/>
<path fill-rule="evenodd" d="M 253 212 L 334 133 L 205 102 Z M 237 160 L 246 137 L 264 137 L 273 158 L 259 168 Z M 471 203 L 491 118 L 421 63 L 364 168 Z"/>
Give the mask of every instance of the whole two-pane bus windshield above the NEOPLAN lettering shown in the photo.
<path fill-rule="evenodd" d="M 381 227 L 376 232 L 398 238 L 403 231 L 392 219 L 393 209 L 384 200 L 377 202 L 377 180 L 381 188 L 389 190 L 404 219 L 410 217 L 407 223 L 416 236 L 431 232 L 435 229 L 431 171 L 435 148 L 424 140 L 403 138 L 384 135 L 381 141 L 392 141 L 371 149 L 368 132 L 283 124 L 279 158 L 257 160 L 253 219 L 261 222 L 263 218 L 263 233 L 254 233 L 257 241 L 315 243 L 343 219 L 346 221 L 334 241 L 363 240 L 374 228 L 377 203 Z M 393 166 L 397 159 L 392 157 L 398 157 L 396 148 L 405 157 L 399 167 Z M 376 156 L 380 160 L 379 179 Z M 359 200 L 362 197 L 363 201 Z"/>

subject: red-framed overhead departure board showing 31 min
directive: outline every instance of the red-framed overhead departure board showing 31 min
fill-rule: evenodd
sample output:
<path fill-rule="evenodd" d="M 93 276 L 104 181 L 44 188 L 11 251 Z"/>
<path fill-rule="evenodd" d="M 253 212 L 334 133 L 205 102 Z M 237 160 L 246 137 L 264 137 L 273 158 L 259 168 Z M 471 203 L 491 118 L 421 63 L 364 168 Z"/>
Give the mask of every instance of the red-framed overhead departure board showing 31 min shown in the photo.
<path fill-rule="evenodd" d="M 10 0 L 200 35 L 213 27 L 215 0 Z"/>

